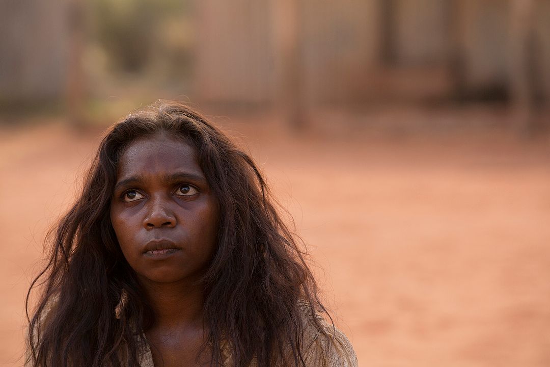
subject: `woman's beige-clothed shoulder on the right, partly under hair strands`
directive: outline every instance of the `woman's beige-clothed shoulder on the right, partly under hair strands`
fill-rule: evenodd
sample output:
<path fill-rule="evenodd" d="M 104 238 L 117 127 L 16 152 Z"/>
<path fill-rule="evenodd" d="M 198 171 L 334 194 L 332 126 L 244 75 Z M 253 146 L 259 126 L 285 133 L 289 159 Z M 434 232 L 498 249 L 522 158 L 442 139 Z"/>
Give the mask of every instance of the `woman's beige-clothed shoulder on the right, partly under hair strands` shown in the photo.
<path fill-rule="evenodd" d="M 304 317 L 303 357 L 307 367 L 357 367 L 355 350 L 345 334 L 309 304 L 301 305 Z"/>

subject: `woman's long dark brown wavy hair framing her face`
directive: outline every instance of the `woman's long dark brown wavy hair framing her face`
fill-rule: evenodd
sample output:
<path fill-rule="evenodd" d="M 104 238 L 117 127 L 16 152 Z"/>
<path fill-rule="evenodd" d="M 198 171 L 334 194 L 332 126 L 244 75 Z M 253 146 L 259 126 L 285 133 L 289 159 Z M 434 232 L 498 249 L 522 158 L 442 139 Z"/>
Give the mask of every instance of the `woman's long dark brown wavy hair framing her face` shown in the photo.
<path fill-rule="evenodd" d="M 80 196 L 48 234 L 47 265 L 26 298 L 26 363 L 138 365 L 139 335 L 155 319 L 119 248 L 109 209 L 125 148 L 161 132 L 194 147 L 221 210 L 217 249 L 204 275 L 202 351 L 212 350 L 212 365 L 223 364 L 224 345 L 237 367 L 252 359 L 260 367 L 304 365 L 304 305 L 308 312 L 328 313 L 301 241 L 283 223 L 250 156 L 194 109 L 165 101 L 129 114 L 107 131 Z M 37 288 L 40 296 L 31 310 Z M 124 309 L 116 316 L 122 294 Z M 329 337 L 320 321 L 311 321 Z"/>

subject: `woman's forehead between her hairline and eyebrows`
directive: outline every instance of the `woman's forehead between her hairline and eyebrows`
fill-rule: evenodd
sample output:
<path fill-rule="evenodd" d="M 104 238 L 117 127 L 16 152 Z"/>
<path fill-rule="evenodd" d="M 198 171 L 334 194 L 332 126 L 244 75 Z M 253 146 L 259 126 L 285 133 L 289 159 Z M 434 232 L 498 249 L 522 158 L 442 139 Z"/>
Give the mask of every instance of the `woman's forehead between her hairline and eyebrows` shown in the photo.
<path fill-rule="evenodd" d="M 166 134 L 133 141 L 123 151 L 117 178 L 173 172 L 202 174 L 194 147 Z"/>

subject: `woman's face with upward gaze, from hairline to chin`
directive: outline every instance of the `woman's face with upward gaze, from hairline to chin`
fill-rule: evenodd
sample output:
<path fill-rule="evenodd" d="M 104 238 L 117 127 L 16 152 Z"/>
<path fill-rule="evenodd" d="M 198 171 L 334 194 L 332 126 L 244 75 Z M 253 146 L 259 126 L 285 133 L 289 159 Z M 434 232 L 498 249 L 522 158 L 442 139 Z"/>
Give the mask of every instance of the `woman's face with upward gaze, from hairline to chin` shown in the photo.
<path fill-rule="evenodd" d="M 219 206 L 193 147 L 165 134 L 131 143 L 119 162 L 111 222 L 142 282 L 202 275 L 217 246 Z"/>

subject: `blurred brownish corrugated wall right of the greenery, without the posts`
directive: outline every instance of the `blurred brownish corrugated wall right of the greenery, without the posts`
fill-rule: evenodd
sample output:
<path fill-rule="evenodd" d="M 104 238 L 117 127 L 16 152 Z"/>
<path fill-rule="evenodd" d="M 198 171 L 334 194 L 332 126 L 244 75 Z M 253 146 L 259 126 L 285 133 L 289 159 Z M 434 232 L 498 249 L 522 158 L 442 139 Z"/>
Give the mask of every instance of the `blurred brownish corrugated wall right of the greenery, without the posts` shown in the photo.
<path fill-rule="evenodd" d="M 505 90 L 512 73 L 509 1 L 295 1 L 305 99 L 361 102 L 384 92 L 408 98 L 424 91 L 444 98 L 458 89 L 482 97 Z M 273 0 L 198 4 L 198 94 L 215 101 L 273 100 L 284 70 L 273 42 L 273 26 L 284 20 L 273 20 Z M 544 65 L 550 54 L 549 4 L 537 1 L 534 25 L 534 47 Z M 547 66 L 536 73 L 549 79 Z M 543 84 L 548 96 L 550 82 Z"/>

